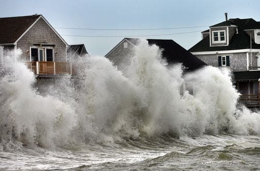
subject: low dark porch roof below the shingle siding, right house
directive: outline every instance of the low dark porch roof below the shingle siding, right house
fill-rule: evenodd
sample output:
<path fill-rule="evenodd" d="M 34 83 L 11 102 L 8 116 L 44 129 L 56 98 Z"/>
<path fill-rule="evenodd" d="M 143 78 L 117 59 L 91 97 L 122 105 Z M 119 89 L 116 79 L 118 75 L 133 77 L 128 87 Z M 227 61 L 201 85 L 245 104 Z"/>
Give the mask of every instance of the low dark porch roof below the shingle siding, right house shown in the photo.
<path fill-rule="evenodd" d="M 233 81 L 243 81 L 243 80 L 257 80 L 260 78 L 259 71 L 240 71 L 233 72 Z"/>

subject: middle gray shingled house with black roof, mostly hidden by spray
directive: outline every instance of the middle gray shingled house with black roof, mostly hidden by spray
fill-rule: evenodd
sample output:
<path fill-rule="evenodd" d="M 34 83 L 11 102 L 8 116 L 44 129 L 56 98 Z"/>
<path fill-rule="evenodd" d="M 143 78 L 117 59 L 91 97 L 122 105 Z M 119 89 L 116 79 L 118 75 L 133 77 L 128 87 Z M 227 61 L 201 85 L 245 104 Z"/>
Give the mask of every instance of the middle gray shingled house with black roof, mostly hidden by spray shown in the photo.
<path fill-rule="evenodd" d="M 157 45 L 162 51 L 162 57 L 171 65 L 172 63 L 182 63 L 185 71 L 194 71 L 206 63 L 182 48 L 175 41 L 169 39 L 146 39 L 149 45 Z M 105 57 L 114 63 L 119 70 L 124 70 L 134 55 L 133 48 L 138 45 L 137 38 L 124 38 L 119 44 L 110 50 Z"/>

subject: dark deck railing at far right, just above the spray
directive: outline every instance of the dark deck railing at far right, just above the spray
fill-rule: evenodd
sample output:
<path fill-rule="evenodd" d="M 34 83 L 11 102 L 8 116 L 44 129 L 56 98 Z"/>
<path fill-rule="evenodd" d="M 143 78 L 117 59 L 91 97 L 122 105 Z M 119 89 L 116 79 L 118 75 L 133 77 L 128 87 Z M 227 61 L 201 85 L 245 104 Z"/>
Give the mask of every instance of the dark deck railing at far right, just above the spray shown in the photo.
<path fill-rule="evenodd" d="M 260 108 L 259 94 L 245 94 L 239 96 L 239 101 L 245 104 L 248 108 Z"/>

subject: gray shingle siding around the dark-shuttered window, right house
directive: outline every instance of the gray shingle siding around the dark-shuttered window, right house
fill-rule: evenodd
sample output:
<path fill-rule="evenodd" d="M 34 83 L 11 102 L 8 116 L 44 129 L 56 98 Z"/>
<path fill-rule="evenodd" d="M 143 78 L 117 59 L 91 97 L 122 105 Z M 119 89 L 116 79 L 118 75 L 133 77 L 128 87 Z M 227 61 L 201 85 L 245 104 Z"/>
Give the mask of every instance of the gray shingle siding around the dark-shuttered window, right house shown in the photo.
<path fill-rule="evenodd" d="M 211 54 L 211 55 L 195 55 L 197 58 L 207 63 L 207 65 L 218 67 L 218 56 L 229 56 L 230 66 L 227 67 L 232 71 L 247 71 L 247 53 L 227 53 L 227 54 Z M 256 65 L 255 54 L 252 54 L 252 66 Z M 249 53 L 249 63 L 250 53 Z M 249 65 L 250 66 L 250 65 Z"/>

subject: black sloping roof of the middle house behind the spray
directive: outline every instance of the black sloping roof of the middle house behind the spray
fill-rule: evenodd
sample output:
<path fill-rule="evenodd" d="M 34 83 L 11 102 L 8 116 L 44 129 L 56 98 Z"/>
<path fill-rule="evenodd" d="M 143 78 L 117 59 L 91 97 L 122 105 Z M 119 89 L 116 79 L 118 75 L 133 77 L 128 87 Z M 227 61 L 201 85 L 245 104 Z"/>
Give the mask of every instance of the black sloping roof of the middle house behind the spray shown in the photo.
<path fill-rule="evenodd" d="M 126 38 L 133 44 L 137 45 L 139 39 L 136 38 Z M 206 63 L 198 59 L 196 56 L 192 55 L 189 51 L 182 48 L 173 40 L 164 39 L 146 39 L 149 45 L 157 45 L 159 48 L 163 49 L 162 56 L 167 60 L 169 64 L 180 62 L 188 71 L 194 71 L 203 66 Z"/>

